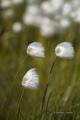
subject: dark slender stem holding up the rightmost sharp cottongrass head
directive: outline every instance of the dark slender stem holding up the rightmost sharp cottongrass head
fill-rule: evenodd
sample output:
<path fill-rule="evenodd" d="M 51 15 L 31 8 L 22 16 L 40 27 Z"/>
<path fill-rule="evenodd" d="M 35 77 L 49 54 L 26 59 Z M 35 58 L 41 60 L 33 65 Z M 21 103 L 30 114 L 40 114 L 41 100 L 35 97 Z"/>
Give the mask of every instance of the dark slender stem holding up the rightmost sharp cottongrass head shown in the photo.
<path fill-rule="evenodd" d="M 45 88 L 45 91 L 44 91 L 44 94 L 43 94 L 43 99 L 42 99 L 42 109 L 43 109 L 43 107 L 44 107 L 45 98 L 46 98 L 46 94 L 47 94 L 48 87 L 49 87 L 49 83 L 50 83 L 51 73 L 52 73 L 52 70 L 53 70 L 53 67 L 54 67 L 54 65 L 55 65 L 56 60 L 57 60 L 57 57 L 56 57 L 55 60 L 53 61 L 52 66 L 51 66 L 51 69 L 50 69 L 50 72 L 49 72 L 48 82 L 47 82 L 47 85 L 46 85 L 46 88 Z"/>

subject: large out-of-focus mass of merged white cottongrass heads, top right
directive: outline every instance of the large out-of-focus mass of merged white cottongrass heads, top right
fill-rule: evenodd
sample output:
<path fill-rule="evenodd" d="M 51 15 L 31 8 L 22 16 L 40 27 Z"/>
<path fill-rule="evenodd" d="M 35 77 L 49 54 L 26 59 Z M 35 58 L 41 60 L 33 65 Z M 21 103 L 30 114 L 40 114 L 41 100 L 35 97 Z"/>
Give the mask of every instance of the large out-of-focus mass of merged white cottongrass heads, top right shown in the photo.
<path fill-rule="evenodd" d="M 26 2 L 23 23 L 39 27 L 40 34 L 44 37 L 59 34 L 62 30 L 65 32 L 74 23 L 80 23 L 80 0 L 46 0 L 43 2 L 26 0 Z"/>

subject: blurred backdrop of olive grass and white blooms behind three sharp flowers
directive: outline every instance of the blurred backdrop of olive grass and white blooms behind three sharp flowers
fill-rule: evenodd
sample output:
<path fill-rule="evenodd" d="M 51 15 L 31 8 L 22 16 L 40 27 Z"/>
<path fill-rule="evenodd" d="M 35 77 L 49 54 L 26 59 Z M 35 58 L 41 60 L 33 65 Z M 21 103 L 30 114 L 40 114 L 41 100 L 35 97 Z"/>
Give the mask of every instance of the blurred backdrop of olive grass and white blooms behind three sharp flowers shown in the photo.
<path fill-rule="evenodd" d="M 0 0 L 0 115 L 3 115 L 14 77 L 27 55 L 31 42 L 41 42 L 45 59 L 28 56 L 12 91 L 9 111 L 15 111 L 21 81 L 27 70 L 37 68 L 39 90 L 25 90 L 21 109 L 23 116 L 39 109 L 55 60 L 55 47 L 71 42 L 75 49 L 72 60 L 58 59 L 51 74 L 52 96 L 49 110 L 73 111 L 80 105 L 80 1 L 79 0 Z M 12 114 L 11 114 L 12 115 Z M 9 119 L 9 118 L 8 118 Z"/>

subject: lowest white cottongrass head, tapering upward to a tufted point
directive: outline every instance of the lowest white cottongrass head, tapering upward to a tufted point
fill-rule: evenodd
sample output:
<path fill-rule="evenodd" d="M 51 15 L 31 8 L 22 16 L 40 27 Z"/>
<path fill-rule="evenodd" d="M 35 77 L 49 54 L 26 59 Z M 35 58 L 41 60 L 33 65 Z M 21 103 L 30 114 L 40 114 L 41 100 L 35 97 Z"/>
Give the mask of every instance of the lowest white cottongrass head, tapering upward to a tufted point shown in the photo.
<path fill-rule="evenodd" d="M 22 79 L 22 86 L 26 89 L 38 89 L 39 88 L 39 76 L 36 72 L 36 68 L 28 70 Z"/>

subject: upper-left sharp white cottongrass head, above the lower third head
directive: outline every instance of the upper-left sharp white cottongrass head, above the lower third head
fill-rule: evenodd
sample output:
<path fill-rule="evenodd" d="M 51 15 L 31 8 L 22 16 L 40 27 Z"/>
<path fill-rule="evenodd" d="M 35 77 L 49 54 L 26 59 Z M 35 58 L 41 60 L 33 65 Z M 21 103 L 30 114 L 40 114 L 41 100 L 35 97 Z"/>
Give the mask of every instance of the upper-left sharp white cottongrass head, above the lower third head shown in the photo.
<path fill-rule="evenodd" d="M 33 42 L 27 47 L 27 54 L 32 57 L 45 58 L 44 47 L 40 42 Z"/>

